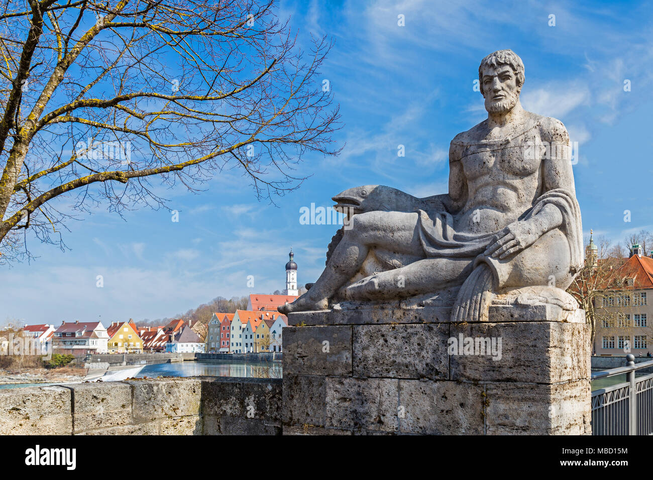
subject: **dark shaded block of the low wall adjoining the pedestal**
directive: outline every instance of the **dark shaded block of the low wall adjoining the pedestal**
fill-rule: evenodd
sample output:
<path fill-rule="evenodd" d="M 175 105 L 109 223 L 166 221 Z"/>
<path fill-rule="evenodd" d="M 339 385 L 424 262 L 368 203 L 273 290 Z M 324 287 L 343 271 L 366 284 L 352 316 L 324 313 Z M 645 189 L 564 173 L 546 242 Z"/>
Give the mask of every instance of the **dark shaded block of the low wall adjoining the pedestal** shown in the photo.
<path fill-rule="evenodd" d="M 204 415 L 281 421 L 281 379 L 201 379 Z"/>

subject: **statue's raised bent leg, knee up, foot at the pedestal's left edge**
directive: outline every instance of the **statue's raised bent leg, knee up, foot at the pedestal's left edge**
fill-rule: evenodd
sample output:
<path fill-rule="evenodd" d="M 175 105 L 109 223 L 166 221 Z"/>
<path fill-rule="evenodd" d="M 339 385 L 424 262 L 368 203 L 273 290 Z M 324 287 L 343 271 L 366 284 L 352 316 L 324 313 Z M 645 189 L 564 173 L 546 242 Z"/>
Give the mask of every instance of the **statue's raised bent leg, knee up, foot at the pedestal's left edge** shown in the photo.
<path fill-rule="evenodd" d="M 311 289 L 279 312 L 327 308 L 329 298 L 358 272 L 371 247 L 408 255 L 422 252 L 416 213 L 366 212 L 351 217 L 350 225 Z"/>

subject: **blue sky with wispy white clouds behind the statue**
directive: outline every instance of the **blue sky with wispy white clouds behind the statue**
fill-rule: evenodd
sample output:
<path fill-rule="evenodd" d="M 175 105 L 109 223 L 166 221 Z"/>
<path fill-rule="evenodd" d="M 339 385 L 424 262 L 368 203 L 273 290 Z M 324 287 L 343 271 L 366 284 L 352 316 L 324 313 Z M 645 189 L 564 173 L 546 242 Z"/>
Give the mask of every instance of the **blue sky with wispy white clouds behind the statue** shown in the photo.
<path fill-rule="evenodd" d="M 502 48 L 526 66 L 524 108 L 558 118 L 579 142 L 574 175 L 584 232 L 622 241 L 629 232 L 653 230 L 652 7 L 281 1 L 279 15 L 291 18 L 302 46 L 309 46 L 310 33 L 335 40 L 321 78 L 341 107 L 342 154 L 306 157 L 298 174 L 311 178 L 276 199 L 277 206 L 257 202 L 247 179 L 230 170 L 199 195 L 165 191 L 178 222 L 167 210 L 126 212 L 123 220 L 98 209 L 69 222 L 70 251 L 28 237 L 39 258 L 3 267 L 0 322 L 100 319 L 108 325 L 170 317 L 219 295 L 272 293 L 285 287 L 291 246 L 299 283 L 314 281 L 336 227 L 302 225 L 300 208 L 330 206 L 336 193 L 364 184 L 419 197 L 446 193 L 451 138 L 486 116 L 473 91 L 479 62 Z M 400 144 L 405 157 L 397 155 Z M 98 275 L 103 288 L 96 287 Z"/>

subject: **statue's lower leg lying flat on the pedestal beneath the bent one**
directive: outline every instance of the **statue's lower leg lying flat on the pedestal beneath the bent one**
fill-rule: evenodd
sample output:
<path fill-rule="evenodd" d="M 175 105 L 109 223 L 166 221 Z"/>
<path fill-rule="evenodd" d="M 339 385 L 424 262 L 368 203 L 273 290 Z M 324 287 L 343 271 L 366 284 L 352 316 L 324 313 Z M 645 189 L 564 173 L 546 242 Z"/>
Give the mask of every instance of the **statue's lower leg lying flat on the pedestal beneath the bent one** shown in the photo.
<path fill-rule="evenodd" d="M 383 300 L 434 293 L 460 285 L 471 273 L 473 259 L 429 258 L 388 270 L 343 289 L 347 300 Z"/>

